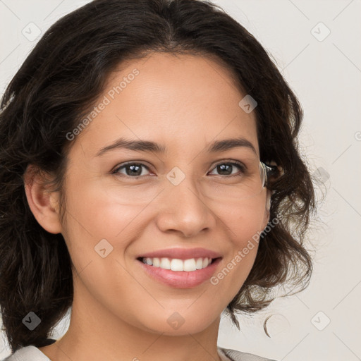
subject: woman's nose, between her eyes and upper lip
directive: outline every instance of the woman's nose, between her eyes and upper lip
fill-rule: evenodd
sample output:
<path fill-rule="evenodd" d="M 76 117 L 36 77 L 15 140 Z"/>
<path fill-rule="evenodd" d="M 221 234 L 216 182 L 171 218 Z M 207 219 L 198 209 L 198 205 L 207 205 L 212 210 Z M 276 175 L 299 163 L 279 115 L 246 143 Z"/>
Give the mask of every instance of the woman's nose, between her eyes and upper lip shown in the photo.
<path fill-rule="evenodd" d="M 214 228 L 216 216 L 191 177 L 185 177 L 178 185 L 166 182 L 160 196 L 157 226 L 162 232 L 191 238 Z"/>

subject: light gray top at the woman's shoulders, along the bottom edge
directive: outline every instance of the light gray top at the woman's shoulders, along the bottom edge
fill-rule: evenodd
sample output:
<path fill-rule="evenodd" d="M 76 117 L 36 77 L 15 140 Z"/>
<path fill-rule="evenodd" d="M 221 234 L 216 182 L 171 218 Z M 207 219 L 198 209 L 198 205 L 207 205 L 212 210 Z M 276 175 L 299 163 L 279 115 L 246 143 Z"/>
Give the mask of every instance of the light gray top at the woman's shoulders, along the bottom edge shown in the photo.
<path fill-rule="evenodd" d="M 241 353 L 240 351 L 230 350 L 228 348 L 218 348 L 222 361 L 275 361 L 269 358 L 252 355 L 250 353 Z M 39 348 L 29 345 L 19 348 L 15 353 L 6 357 L 2 361 L 51 361 Z"/>

